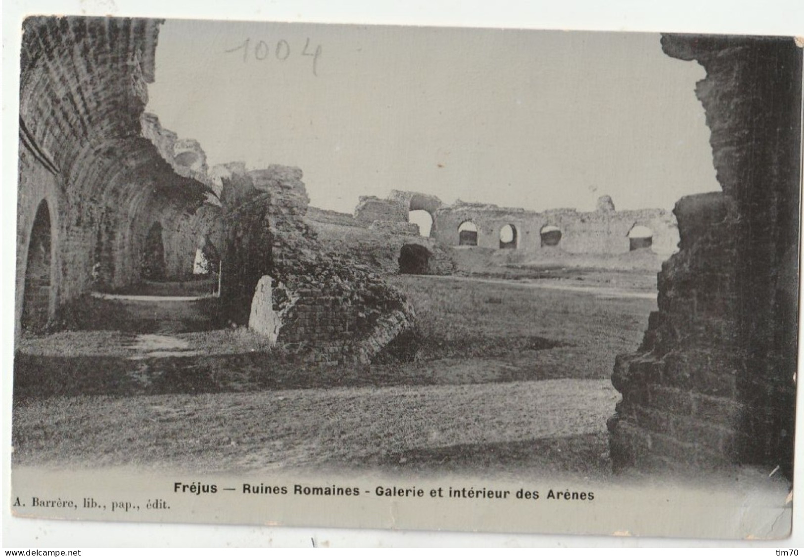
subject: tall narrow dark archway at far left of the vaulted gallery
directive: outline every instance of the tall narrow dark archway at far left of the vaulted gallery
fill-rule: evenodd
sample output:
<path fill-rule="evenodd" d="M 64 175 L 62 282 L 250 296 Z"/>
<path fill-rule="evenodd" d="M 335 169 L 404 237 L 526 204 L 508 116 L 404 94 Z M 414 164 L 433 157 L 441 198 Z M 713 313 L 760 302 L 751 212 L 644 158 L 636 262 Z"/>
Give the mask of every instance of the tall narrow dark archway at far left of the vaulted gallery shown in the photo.
<path fill-rule="evenodd" d="M 42 332 L 47 328 L 51 291 L 51 221 L 47 201 L 36 210 L 31 239 L 28 241 L 28 259 L 25 267 L 23 291 L 23 332 Z"/>

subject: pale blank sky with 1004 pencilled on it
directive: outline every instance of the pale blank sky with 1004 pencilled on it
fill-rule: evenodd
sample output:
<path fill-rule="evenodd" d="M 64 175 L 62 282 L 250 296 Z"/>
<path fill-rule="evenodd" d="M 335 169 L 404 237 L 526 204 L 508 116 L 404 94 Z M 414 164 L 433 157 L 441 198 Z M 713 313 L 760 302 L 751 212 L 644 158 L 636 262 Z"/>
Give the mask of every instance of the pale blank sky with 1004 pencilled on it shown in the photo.
<path fill-rule="evenodd" d="M 352 212 L 394 188 L 672 208 L 720 187 L 694 92 L 704 70 L 659 39 L 168 20 L 147 109 L 210 166 L 301 167 L 321 208 Z"/>

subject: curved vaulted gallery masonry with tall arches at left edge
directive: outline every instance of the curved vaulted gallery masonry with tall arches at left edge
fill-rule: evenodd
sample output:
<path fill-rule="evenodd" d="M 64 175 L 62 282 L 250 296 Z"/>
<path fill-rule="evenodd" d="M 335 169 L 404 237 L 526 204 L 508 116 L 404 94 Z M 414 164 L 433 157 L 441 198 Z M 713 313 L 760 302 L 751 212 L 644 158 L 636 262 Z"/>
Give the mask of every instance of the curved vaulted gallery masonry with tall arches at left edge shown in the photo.
<path fill-rule="evenodd" d="M 77 17 L 24 23 L 18 333 L 31 226 L 43 200 L 51 214 L 51 324 L 61 308 L 99 284 L 136 283 L 154 222 L 174 223 L 182 233 L 176 223 L 206 200 L 207 188 L 176 174 L 142 136 L 159 23 Z"/>

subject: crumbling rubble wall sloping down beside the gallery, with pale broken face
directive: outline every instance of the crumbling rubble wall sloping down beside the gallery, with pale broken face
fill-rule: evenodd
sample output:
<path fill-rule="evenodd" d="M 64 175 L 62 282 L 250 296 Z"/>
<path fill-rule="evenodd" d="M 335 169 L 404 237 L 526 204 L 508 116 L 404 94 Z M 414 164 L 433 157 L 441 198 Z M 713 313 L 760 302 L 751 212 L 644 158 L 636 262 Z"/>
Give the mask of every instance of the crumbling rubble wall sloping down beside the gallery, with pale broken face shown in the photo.
<path fill-rule="evenodd" d="M 306 224 L 301 171 L 272 165 L 222 178 L 221 303 L 291 353 L 321 365 L 367 363 L 412 328 L 412 307 L 379 275 L 325 249 Z"/>

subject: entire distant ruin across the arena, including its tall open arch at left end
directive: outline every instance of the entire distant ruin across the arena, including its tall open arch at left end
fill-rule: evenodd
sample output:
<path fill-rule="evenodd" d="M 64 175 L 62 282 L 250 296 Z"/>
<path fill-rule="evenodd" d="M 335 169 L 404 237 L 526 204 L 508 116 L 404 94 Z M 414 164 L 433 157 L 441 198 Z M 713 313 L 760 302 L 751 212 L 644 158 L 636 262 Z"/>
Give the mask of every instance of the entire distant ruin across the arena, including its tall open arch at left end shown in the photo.
<path fill-rule="evenodd" d="M 433 217 L 429 238 L 413 241 L 418 227 L 408 222 L 408 212 L 415 210 L 425 210 Z M 572 254 L 626 254 L 631 249 L 629 233 L 637 225 L 646 226 L 653 232 L 650 250 L 656 254 L 669 256 L 677 250 L 679 243 L 678 226 L 671 211 L 658 208 L 616 211 L 608 196 L 598 200 L 598 208 L 593 212 L 575 209 L 535 212 L 461 200 L 445 205 L 435 196 L 393 190 L 386 199 L 360 197 L 351 221 L 348 215 L 338 215 L 337 218 L 328 214 L 314 217 L 322 223 L 314 225 L 322 229 L 321 236 L 340 238 L 342 241 L 337 243 L 341 250 L 349 250 L 350 245 L 359 246 L 355 250 L 357 257 L 367 258 L 375 265 L 379 262 L 387 272 L 398 270 L 394 254 L 399 254 L 401 246 L 415 243 L 435 254 L 431 258 L 433 270 L 429 274 L 452 274 L 461 266 L 459 254 L 452 249 L 464 247 L 460 246 L 458 228 L 466 221 L 478 228 L 477 246 L 495 251 L 500 250 L 501 229 L 512 225 L 516 231 L 516 249 L 511 250 L 511 255 L 551 250 Z M 333 226 L 327 230 L 326 225 Z M 542 245 L 541 231 L 548 225 L 560 229 L 559 245 Z M 385 237 L 361 233 L 361 227 L 386 233 Z M 411 241 L 400 241 L 405 236 Z"/>

